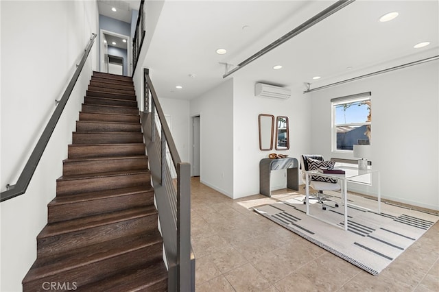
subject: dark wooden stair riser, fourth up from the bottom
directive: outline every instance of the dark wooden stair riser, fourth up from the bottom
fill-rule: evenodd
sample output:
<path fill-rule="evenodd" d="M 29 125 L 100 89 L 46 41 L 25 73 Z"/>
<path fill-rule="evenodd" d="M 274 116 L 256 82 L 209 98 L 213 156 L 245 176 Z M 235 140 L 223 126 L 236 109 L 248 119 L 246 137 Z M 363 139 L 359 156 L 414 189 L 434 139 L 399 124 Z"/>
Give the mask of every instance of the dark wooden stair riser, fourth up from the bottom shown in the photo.
<path fill-rule="evenodd" d="M 118 175 L 104 178 L 85 178 L 82 180 L 57 180 L 56 195 L 74 195 L 78 193 L 128 188 L 150 185 L 150 173 Z"/>

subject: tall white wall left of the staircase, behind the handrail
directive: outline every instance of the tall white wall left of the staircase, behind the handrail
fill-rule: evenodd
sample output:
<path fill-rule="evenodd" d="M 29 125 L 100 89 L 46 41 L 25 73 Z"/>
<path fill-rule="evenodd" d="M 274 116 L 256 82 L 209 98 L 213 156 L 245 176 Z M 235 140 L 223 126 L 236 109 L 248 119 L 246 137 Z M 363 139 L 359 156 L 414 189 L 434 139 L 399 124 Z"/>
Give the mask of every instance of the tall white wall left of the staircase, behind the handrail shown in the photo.
<path fill-rule="evenodd" d="M 1 1 L 1 191 L 14 184 L 69 82 L 92 33 L 95 1 Z M 36 13 L 38 12 L 38 13 Z M 88 57 L 27 192 L 2 202 L 1 291 L 21 291 L 36 236 L 67 158 L 97 48 Z"/>

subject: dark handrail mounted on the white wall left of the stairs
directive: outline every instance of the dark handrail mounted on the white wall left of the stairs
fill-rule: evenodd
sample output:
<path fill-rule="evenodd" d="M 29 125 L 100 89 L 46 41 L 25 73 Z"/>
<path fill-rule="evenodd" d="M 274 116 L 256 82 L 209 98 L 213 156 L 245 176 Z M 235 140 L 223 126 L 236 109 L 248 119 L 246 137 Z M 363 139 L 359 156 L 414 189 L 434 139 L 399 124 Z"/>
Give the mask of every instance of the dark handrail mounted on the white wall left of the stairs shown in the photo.
<path fill-rule="evenodd" d="M 66 90 L 64 90 L 64 94 L 62 95 L 61 99 L 57 101 L 58 106 L 56 106 L 54 113 L 47 122 L 43 133 L 38 139 L 38 142 L 36 143 L 32 154 L 29 156 L 29 159 L 27 160 L 26 165 L 23 168 L 23 171 L 21 171 L 19 179 L 17 180 L 16 184 L 6 185 L 7 191 L 1 192 L 0 202 L 3 202 L 7 199 L 12 199 L 13 197 L 17 197 L 26 193 L 27 186 L 29 186 L 29 183 L 32 180 L 32 176 L 34 175 L 36 167 L 38 166 L 38 162 L 40 162 L 40 158 L 41 156 L 43 156 L 47 143 L 49 143 L 50 136 L 55 130 L 56 124 L 61 117 L 62 111 L 64 110 L 67 101 L 69 101 L 69 97 L 71 95 L 71 92 L 73 91 L 73 88 L 75 87 L 76 81 L 78 81 L 78 77 L 80 76 L 82 68 L 84 67 L 84 64 L 88 58 L 88 53 L 90 53 L 91 47 L 93 47 L 93 43 L 95 42 L 95 38 L 96 34 L 92 34 L 84 50 L 81 61 L 79 64 L 77 64 L 75 73 L 73 73 L 73 76 L 71 77 L 69 85 L 67 85 Z"/>

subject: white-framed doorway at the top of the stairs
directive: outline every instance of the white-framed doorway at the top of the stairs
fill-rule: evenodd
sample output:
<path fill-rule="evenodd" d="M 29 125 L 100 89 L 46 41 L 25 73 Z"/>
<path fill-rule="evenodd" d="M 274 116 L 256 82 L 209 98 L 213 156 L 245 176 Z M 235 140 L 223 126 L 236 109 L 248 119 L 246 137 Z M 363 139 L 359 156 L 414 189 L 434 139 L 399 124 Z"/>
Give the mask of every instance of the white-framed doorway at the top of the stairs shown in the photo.
<path fill-rule="evenodd" d="M 130 36 L 101 29 L 100 71 L 123 76 L 131 76 Z"/>

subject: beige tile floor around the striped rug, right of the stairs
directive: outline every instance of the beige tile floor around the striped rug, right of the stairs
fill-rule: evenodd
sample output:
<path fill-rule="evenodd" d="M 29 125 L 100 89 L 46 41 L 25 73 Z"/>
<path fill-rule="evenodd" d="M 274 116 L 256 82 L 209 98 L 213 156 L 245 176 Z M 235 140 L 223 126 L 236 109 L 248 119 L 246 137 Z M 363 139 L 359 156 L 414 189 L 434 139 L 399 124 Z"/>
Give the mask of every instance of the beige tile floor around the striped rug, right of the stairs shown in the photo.
<path fill-rule="evenodd" d="M 198 292 L 439 291 L 439 222 L 372 276 L 249 209 L 272 198 L 233 200 L 199 178 L 191 193 Z"/>

